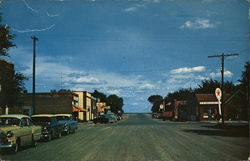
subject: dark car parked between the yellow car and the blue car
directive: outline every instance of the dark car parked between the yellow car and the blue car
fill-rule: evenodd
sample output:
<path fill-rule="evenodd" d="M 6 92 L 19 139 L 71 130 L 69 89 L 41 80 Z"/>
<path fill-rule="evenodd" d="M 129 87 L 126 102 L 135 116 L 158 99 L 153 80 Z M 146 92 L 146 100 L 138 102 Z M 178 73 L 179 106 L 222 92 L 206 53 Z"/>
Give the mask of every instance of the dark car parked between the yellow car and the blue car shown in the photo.
<path fill-rule="evenodd" d="M 42 126 L 42 139 L 50 141 L 55 137 L 62 136 L 63 124 L 57 121 L 55 115 L 39 114 L 33 115 L 31 118 L 35 125 Z"/>

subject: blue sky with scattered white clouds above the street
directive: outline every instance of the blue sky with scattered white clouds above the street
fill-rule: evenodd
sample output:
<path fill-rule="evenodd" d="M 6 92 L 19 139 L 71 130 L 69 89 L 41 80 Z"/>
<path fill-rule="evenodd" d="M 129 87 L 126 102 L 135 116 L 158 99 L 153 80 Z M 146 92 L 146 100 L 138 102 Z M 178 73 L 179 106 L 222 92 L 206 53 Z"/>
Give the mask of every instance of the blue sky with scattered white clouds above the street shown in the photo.
<path fill-rule="evenodd" d="M 247 0 L 1 0 L 16 47 L 4 58 L 32 92 L 98 90 L 124 99 L 125 112 L 149 112 L 151 95 L 196 88 L 202 80 L 237 84 L 249 60 Z"/>

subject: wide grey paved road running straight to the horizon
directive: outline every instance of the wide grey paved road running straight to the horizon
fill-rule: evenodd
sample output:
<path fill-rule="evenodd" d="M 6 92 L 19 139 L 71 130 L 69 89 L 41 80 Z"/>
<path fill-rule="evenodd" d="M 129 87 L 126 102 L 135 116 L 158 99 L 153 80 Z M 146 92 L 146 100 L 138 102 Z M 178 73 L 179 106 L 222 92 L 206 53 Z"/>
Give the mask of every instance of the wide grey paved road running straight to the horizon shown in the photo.
<path fill-rule="evenodd" d="M 3 160 L 246 160 L 248 137 L 224 136 L 206 123 L 164 122 L 129 114 L 118 123 L 82 124 L 75 134 Z"/>

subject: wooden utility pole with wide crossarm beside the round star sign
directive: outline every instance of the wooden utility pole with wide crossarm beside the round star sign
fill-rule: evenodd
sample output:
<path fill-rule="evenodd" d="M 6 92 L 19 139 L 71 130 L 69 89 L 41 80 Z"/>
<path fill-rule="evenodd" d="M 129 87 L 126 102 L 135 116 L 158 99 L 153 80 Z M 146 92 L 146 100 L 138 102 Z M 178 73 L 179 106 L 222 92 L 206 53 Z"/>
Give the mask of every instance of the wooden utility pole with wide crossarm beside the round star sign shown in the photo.
<path fill-rule="evenodd" d="M 224 60 L 226 56 L 237 56 L 239 54 L 224 54 L 222 53 L 221 55 L 213 55 L 213 56 L 208 56 L 208 58 L 214 58 L 214 57 L 219 57 L 221 58 L 221 91 L 222 91 L 222 97 L 221 97 L 221 118 L 222 118 L 222 124 L 224 124 Z"/>

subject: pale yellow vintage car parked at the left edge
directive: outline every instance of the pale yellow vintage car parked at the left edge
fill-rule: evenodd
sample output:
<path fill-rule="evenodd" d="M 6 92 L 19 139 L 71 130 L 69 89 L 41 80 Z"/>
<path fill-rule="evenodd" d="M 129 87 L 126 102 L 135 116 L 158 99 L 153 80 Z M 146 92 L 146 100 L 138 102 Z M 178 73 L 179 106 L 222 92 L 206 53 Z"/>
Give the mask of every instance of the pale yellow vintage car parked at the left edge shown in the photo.
<path fill-rule="evenodd" d="M 36 146 L 41 127 L 35 126 L 26 115 L 0 115 L 0 148 L 17 152 L 20 147 Z"/>

